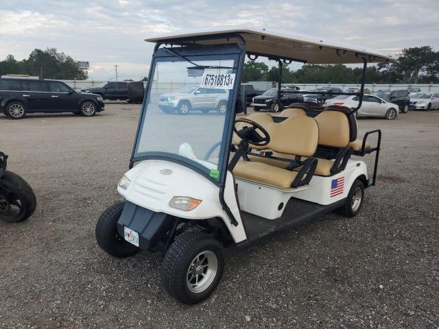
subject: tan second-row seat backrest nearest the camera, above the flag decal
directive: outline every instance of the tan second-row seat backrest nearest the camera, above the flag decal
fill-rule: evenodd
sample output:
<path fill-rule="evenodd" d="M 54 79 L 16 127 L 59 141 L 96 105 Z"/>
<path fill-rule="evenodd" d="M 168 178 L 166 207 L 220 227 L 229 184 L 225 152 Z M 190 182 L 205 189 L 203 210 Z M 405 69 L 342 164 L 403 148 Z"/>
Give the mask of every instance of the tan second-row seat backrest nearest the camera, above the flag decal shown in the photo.
<path fill-rule="evenodd" d="M 318 123 L 319 145 L 346 147 L 349 143 L 349 122 L 346 114 L 326 110 L 315 117 Z"/>

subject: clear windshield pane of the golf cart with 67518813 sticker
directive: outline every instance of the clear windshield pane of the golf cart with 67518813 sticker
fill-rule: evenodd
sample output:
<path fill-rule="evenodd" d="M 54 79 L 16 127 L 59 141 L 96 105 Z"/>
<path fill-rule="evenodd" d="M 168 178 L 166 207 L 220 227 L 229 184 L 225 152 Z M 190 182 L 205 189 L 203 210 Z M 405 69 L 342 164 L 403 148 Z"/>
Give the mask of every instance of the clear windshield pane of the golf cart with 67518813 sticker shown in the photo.
<path fill-rule="evenodd" d="M 222 59 L 216 60 L 219 57 Z M 188 58 L 202 66 L 235 66 L 230 55 Z M 235 108 L 228 105 L 237 70 L 204 69 L 202 76 L 193 77 L 188 74 L 188 66 L 193 64 L 178 57 L 156 59 L 133 158 L 175 158 L 219 179 L 226 111 Z M 215 88 L 206 85 L 213 81 L 207 76 L 216 81 Z M 228 85 L 223 80 L 228 80 Z"/>

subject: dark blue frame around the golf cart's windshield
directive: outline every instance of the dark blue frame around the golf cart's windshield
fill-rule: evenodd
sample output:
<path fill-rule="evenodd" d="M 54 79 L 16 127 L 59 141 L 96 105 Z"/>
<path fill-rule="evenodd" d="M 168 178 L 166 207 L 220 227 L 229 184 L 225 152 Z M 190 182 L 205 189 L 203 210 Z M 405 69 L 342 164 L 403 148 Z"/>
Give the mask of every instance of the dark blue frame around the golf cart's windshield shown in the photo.
<path fill-rule="evenodd" d="M 176 56 L 168 51 L 163 50 L 163 48 L 158 49 L 156 45 L 156 49 L 154 51 L 152 57 L 152 64 L 150 66 L 150 74 L 148 77 L 148 81 L 152 81 L 154 72 L 156 71 L 156 65 L 158 62 L 185 62 L 185 58 L 181 58 Z M 145 151 L 139 154 L 136 153 L 137 147 L 139 145 L 141 131 L 143 125 L 145 123 L 145 117 L 147 112 L 147 105 L 150 100 L 150 93 L 152 84 L 147 85 L 147 90 L 145 91 L 145 97 L 143 99 L 141 114 L 139 118 L 139 125 L 137 127 L 137 133 L 134 140 L 134 146 L 132 148 L 132 155 L 130 160 L 130 166 L 132 163 L 142 161 L 142 160 L 167 160 L 171 162 L 176 162 L 178 164 L 182 164 L 185 167 L 189 167 L 194 171 L 200 173 L 207 179 L 209 179 L 213 184 L 217 186 L 222 186 L 225 181 L 228 158 L 229 158 L 229 149 L 230 143 L 232 139 L 233 133 L 233 123 L 235 122 L 235 103 L 237 100 L 237 94 L 239 91 L 239 82 L 242 67 L 244 65 L 244 55 L 242 49 L 239 49 L 236 44 L 228 44 L 228 45 L 191 45 L 189 47 L 171 47 L 173 51 L 177 52 L 178 55 L 185 56 L 189 58 L 193 62 L 202 61 L 202 60 L 233 60 L 233 66 L 236 67 L 236 78 L 235 84 L 232 89 L 229 91 L 229 101 L 224 119 L 224 126 L 222 131 L 221 138 L 221 146 L 219 148 L 219 160 L 217 164 L 217 170 L 219 171 L 219 177 L 213 178 L 209 175 L 208 169 L 204 167 L 202 164 L 191 160 L 189 158 L 185 158 L 184 156 L 180 156 L 178 154 L 171 154 L 167 152 L 161 151 Z M 245 49 L 244 49 L 245 54 Z M 188 62 L 188 66 L 191 64 Z M 202 160 L 202 159 L 200 159 Z"/>

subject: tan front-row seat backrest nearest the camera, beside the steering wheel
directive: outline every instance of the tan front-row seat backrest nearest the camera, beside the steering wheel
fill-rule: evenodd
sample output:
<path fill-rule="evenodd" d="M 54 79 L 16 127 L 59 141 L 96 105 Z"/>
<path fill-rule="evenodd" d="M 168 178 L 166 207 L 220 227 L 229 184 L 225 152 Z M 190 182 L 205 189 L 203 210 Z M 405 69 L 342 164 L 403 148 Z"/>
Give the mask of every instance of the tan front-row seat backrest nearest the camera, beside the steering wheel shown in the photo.
<path fill-rule="evenodd" d="M 294 156 L 312 156 L 318 145 L 319 127 L 309 117 L 291 117 L 280 123 L 268 126 L 273 151 Z"/>

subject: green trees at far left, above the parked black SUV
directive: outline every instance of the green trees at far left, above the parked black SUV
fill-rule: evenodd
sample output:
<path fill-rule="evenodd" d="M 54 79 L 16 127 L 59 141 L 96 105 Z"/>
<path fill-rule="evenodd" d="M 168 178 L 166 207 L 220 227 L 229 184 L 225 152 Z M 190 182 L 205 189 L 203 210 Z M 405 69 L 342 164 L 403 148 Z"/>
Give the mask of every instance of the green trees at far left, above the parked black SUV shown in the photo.
<path fill-rule="evenodd" d="M 84 80 L 87 72 L 80 69 L 71 56 L 58 53 L 55 48 L 34 49 L 29 58 L 16 60 L 8 55 L 0 61 L 0 75 L 23 74 L 56 80 Z"/>

